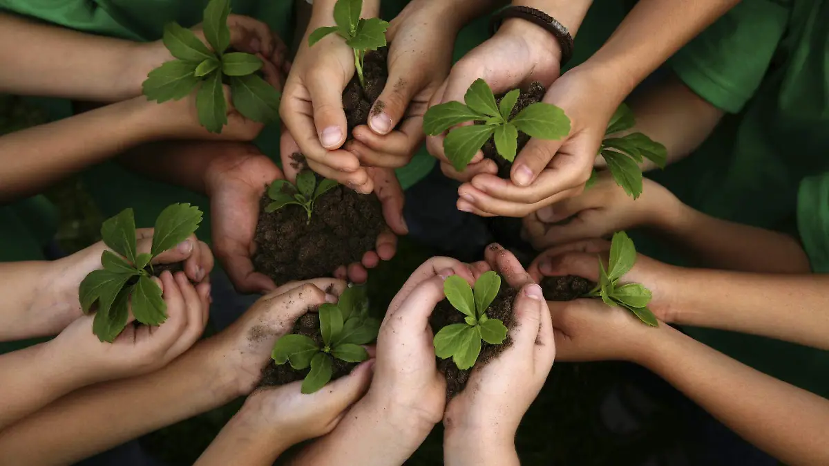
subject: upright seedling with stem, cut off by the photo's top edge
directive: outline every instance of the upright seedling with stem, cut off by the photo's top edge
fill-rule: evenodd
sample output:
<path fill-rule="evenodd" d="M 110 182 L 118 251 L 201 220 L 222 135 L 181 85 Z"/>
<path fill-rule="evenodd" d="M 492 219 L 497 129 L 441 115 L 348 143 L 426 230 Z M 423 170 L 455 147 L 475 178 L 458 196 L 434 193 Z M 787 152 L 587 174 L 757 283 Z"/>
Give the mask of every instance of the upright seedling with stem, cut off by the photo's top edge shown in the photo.
<path fill-rule="evenodd" d="M 385 30 L 389 23 L 379 17 L 361 18 L 362 0 L 337 0 L 334 4 L 334 22 L 337 26 L 320 27 L 308 36 L 308 46 L 313 46 L 323 37 L 337 33 L 354 50 L 354 67 L 360 85 L 366 89 L 363 76 L 363 62 L 366 52 L 385 47 Z"/>

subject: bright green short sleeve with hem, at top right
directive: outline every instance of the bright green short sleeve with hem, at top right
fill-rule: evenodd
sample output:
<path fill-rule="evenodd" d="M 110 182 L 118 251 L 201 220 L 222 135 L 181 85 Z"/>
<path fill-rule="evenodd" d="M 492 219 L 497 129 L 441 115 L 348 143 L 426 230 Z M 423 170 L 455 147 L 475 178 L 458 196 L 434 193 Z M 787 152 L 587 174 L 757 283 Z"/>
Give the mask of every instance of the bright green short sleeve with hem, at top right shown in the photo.
<path fill-rule="evenodd" d="M 739 113 L 759 88 L 786 30 L 788 2 L 740 2 L 671 58 L 671 68 L 697 95 Z"/>

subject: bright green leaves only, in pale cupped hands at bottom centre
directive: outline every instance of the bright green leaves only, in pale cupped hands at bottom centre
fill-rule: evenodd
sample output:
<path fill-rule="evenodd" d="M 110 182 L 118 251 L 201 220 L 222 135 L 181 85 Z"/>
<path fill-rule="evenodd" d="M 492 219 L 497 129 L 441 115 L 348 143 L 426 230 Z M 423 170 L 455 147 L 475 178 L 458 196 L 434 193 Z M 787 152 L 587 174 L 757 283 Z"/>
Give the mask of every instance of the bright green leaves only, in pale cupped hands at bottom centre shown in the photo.
<path fill-rule="evenodd" d="M 497 318 L 487 318 L 487 308 L 501 289 L 501 277 L 495 272 L 482 274 L 475 289 L 466 280 L 452 275 L 444 281 L 444 294 L 453 308 L 463 315 L 465 323 L 441 328 L 434 336 L 434 353 L 441 359 L 452 357 L 458 369 L 468 369 L 478 361 L 481 341 L 500 345 L 507 337 L 507 327 Z"/>

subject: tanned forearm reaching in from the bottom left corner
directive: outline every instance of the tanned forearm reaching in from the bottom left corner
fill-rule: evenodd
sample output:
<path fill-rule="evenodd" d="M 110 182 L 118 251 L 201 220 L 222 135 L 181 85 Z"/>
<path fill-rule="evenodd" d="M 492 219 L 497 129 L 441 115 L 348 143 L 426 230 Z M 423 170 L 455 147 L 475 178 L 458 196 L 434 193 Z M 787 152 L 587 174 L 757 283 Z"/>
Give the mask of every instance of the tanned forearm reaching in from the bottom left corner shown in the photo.
<path fill-rule="evenodd" d="M 215 339 L 160 371 L 76 391 L 0 432 L 4 464 L 74 464 L 240 396 L 232 377 L 212 370 Z"/>

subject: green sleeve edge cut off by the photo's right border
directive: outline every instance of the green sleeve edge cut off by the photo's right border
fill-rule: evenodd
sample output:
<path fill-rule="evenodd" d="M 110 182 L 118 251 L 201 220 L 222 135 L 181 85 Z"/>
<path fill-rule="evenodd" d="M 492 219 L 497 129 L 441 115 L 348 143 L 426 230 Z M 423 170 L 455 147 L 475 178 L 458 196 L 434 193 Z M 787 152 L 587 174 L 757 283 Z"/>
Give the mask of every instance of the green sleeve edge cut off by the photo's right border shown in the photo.
<path fill-rule="evenodd" d="M 812 271 L 829 273 L 829 173 L 807 177 L 800 182 L 797 230 Z"/>

